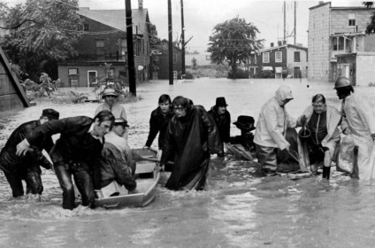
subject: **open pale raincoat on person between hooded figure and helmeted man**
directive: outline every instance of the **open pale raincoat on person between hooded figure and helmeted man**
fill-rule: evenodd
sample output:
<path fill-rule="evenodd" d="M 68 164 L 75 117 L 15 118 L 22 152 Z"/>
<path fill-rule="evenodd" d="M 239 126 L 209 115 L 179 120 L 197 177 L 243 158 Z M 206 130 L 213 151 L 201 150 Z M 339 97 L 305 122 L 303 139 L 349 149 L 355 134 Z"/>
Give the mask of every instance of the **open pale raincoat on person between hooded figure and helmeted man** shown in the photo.
<path fill-rule="evenodd" d="M 312 112 L 313 112 L 313 107 L 309 106 L 307 107 L 302 115 L 297 119 L 297 126 L 302 126 L 302 117 L 306 117 L 306 121 L 309 122 Z M 322 140 L 322 146 L 326 147 L 329 149 L 331 158 L 333 158 L 333 153 L 336 149 L 337 144 L 340 142 L 340 130 L 337 128 L 340 124 L 341 121 L 341 115 L 340 112 L 331 107 L 331 106 L 326 106 L 326 128 L 327 128 L 327 135 L 325 138 Z M 309 161 L 309 156 L 308 152 L 305 151 L 307 149 L 306 146 L 304 146 L 301 141 L 298 142 L 298 153 L 300 157 L 300 165 L 303 168 L 310 167 L 310 161 Z"/>

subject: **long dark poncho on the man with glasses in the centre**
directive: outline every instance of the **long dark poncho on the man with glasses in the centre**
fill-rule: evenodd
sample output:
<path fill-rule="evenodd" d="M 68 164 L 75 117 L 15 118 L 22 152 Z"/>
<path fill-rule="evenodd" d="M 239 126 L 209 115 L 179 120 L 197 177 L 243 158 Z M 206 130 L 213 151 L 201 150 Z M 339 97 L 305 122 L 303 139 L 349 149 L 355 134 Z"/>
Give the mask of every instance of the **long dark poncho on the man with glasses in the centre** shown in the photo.
<path fill-rule="evenodd" d="M 174 148 L 174 166 L 165 187 L 170 190 L 201 190 L 209 169 L 210 153 L 218 153 L 222 145 L 215 121 L 203 106 L 192 106 L 181 118 L 174 115 L 165 134 L 161 159 L 165 163 Z"/>

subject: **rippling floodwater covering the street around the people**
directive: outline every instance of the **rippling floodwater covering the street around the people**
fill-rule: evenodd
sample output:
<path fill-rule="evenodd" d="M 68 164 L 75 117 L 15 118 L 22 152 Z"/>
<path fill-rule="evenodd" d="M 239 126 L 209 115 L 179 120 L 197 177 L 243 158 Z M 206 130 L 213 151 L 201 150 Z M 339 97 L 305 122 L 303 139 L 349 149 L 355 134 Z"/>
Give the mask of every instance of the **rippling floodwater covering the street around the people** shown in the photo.
<path fill-rule="evenodd" d="M 323 93 L 328 105 L 340 107 L 332 83 L 305 80 L 199 79 L 154 81 L 138 86 L 142 100 L 126 104 L 129 144 L 142 147 L 149 131 L 149 114 L 161 94 L 191 98 L 207 110 L 216 97 L 226 97 L 235 121 L 239 115 L 257 119 L 261 106 L 281 83 L 293 89 L 287 105 L 297 117 L 311 97 Z M 310 87 L 308 87 L 308 85 Z M 375 106 L 375 87 L 356 88 Z M 61 118 L 92 116 L 97 104 L 43 103 L 18 112 L 2 113 L 0 147 L 19 124 L 39 118 L 51 107 Z M 233 136 L 240 131 L 234 125 Z M 157 140 L 154 141 L 157 145 Z M 161 184 L 166 181 L 163 174 Z M 212 156 L 210 189 L 175 192 L 157 189 L 157 198 L 144 208 L 121 210 L 61 207 L 56 176 L 43 170 L 42 202 L 11 199 L 11 189 L 0 174 L 1 247 L 373 247 L 375 242 L 375 188 L 334 172 L 291 180 L 260 176 L 256 163 L 231 155 Z"/>

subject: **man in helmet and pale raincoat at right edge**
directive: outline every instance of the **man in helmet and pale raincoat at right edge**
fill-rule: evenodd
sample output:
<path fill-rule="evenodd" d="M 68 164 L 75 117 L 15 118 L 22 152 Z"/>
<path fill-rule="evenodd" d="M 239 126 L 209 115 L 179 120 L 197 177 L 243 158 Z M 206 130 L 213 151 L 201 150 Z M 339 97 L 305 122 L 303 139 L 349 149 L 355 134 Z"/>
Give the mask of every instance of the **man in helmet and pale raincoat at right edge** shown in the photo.
<path fill-rule="evenodd" d="M 345 135 L 352 135 L 358 146 L 358 174 L 360 179 L 375 177 L 375 114 L 364 97 L 358 97 L 346 77 L 339 77 L 334 89 L 341 105 L 341 128 Z"/>

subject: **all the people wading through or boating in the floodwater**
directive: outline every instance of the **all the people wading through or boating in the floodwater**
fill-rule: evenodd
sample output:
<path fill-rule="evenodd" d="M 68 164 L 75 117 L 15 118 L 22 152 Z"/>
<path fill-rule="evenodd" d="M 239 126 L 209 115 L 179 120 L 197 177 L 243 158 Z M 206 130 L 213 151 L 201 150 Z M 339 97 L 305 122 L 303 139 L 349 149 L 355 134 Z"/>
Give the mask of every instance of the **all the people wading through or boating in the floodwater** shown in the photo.
<path fill-rule="evenodd" d="M 299 118 L 288 115 L 286 105 L 293 99 L 287 85 L 281 85 L 274 97 L 261 109 L 254 136 L 256 157 L 264 174 L 275 174 L 284 154 L 295 158 L 297 151 L 301 168 L 311 168 L 330 178 L 332 160 L 340 146 L 341 133 L 353 136 L 358 147 L 356 177 L 369 179 L 375 166 L 375 116 L 361 97 L 356 97 L 348 78 L 335 82 L 337 96 L 342 100 L 341 112 L 326 105 L 325 97 L 312 98 Z M 59 113 L 45 109 L 39 120 L 16 128 L 0 152 L 0 168 L 9 182 L 13 198 L 27 194 L 38 198 L 42 194 L 41 168 L 53 169 L 63 190 L 63 208 L 73 209 L 75 193 L 73 180 L 80 192 L 81 204 L 95 207 L 103 189 L 116 182 L 129 194 L 136 193 L 134 173 L 136 163 L 127 143 L 126 111 L 119 105 L 115 89 L 103 90 L 104 103 L 96 109 L 95 117 L 69 117 L 59 120 Z M 151 112 L 149 136 L 144 148 L 149 148 L 158 136 L 158 148 L 163 151 L 161 167 L 172 171 L 165 187 L 170 190 L 204 190 L 210 166 L 210 154 L 225 156 L 230 145 L 231 115 L 226 110 L 226 98 L 217 97 L 216 105 L 206 111 L 187 97 L 168 95 L 158 99 Z M 240 120 L 240 119 L 239 119 Z M 241 124 L 241 123 L 240 123 Z M 246 123 L 245 123 L 246 124 Z M 246 126 L 246 125 L 242 126 Z M 291 143 L 290 128 L 302 127 L 303 136 Z M 306 135 L 308 130 L 308 136 Z M 51 136 L 60 134 L 56 143 Z M 301 131 L 300 131 L 301 134 Z M 298 146 L 298 147 L 296 147 Z M 46 159 L 42 150 L 50 155 Z M 171 166 L 172 165 L 172 166 Z"/>

